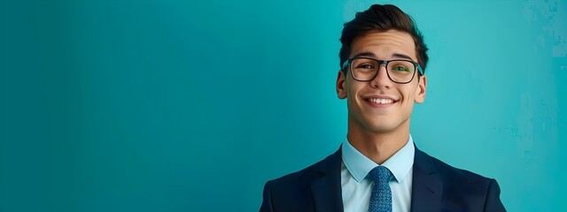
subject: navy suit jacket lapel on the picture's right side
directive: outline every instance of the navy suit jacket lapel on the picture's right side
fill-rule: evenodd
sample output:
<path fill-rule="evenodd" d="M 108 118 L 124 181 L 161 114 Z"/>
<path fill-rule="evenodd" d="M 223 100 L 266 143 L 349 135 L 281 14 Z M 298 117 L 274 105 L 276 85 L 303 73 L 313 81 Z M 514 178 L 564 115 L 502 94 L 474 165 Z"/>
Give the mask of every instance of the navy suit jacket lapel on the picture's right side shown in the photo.
<path fill-rule="evenodd" d="M 411 211 L 441 211 L 443 183 L 437 177 L 430 155 L 416 148 Z"/>

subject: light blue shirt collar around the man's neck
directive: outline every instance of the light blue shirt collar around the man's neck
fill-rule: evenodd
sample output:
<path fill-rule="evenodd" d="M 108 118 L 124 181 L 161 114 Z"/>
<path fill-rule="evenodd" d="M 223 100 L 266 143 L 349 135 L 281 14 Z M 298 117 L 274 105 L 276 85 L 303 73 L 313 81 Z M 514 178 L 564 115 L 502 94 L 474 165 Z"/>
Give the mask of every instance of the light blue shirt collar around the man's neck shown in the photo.
<path fill-rule="evenodd" d="M 348 140 L 345 140 L 343 143 L 342 154 L 346 169 L 359 183 L 368 175 L 370 170 L 380 165 L 374 163 L 365 155 L 362 155 Z M 411 138 L 410 134 L 406 145 L 400 148 L 396 154 L 388 158 L 382 165 L 392 171 L 393 177 L 396 178 L 398 183 L 401 183 L 406 176 L 408 176 L 408 171 L 414 165 L 415 155 L 416 148 L 414 147 L 414 140 Z"/>

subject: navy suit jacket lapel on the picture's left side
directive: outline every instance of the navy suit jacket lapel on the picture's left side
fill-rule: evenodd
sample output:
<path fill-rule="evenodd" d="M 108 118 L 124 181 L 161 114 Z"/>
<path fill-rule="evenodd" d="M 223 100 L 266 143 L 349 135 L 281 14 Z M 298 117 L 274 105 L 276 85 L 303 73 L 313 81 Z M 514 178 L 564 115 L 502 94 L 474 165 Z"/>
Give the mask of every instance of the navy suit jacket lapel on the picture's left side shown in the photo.
<path fill-rule="evenodd" d="M 340 164 L 341 148 L 320 163 L 311 181 L 315 211 L 343 211 Z"/>

